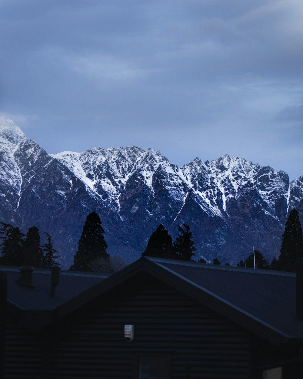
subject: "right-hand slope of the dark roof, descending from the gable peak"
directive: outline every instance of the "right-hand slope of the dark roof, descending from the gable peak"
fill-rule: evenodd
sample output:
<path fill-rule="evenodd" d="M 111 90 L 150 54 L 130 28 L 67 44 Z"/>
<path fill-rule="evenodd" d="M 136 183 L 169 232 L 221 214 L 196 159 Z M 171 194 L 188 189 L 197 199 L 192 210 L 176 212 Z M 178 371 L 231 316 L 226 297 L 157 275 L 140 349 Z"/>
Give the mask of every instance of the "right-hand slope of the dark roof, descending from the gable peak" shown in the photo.
<path fill-rule="evenodd" d="M 192 287 L 196 298 L 212 302 L 221 313 L 250 324 L 270 339 L 303 338 L 296 317 L 296 274 L 196 262 L 148 258 L 158 268 Z M 303 301 L 303 299 L 302 299 Z"/>

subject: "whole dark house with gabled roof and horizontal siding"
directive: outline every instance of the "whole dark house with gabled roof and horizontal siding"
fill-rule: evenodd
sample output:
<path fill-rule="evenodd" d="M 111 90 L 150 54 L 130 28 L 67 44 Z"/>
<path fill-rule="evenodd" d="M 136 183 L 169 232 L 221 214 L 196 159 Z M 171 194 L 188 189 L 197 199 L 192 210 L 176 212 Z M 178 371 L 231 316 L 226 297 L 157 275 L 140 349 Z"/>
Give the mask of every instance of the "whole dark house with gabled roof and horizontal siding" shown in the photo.
<path fill-rule="evenodd" d="M 4 377 L 302 378 L 297 267 L 142 257 L 106 276 L 2 266 Z"/>

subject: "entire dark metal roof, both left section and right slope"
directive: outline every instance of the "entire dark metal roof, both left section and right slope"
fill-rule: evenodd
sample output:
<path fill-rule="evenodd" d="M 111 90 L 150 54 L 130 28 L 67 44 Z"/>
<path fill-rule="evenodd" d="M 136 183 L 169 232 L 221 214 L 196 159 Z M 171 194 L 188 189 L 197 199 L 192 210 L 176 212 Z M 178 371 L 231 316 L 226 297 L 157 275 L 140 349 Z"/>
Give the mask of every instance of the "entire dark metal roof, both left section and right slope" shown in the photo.
<path fill-rule="evenodd" d="M 8 303 L 31 313 L 55 311 L 56 315 L 45 322 L 145 271 L 269 341 L 286 343 L 303 338 L 303 320 L 295 316 L 295 273 L 142 257 L 112 276 L 62 271 L 55 298 L 51 298 L 49 270 L 36 269 L 34 290 L 16 283 L 16 268 L 5 271 Z"/>

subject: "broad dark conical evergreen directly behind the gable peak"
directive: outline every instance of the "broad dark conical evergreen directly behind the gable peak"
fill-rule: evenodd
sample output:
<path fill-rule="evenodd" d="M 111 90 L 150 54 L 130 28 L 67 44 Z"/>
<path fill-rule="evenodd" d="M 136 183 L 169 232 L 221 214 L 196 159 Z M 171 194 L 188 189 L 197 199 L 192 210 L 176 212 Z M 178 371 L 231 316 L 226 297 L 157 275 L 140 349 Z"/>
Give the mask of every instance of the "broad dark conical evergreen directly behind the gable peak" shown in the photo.
<path fill-rule="evenodd" d="M 173 249 L 172 237 L 169 235 L 167 230 L 164 229 L 162 224 L 160 224 L 155 232 L 153 232 L 150 236 L 147 246 L 142 253 L 142 257 L 144 255 L 158 258 L 176 258 L 175 250 Z"/>

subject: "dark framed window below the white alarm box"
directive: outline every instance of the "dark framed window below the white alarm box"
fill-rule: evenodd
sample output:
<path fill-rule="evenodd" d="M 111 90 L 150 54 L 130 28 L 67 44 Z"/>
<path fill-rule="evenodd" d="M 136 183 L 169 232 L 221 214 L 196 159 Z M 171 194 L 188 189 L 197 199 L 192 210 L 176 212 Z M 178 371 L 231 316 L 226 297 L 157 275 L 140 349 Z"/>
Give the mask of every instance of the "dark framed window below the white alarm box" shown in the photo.
<path fill-rule="evenodd" d="M 168 352 L 138 352 L 135 355 L 136 379 L 170 379 L 171 354 Z"/>

